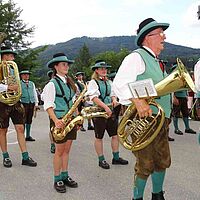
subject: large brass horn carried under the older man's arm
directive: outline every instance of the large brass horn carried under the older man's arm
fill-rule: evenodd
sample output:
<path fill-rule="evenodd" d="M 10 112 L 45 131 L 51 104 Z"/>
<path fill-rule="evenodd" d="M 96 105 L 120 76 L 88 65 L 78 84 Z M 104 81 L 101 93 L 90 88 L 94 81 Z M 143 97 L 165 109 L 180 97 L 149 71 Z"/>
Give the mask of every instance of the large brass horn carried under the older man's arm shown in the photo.
<path fill-rule="evenodd" d="M 158 97 L 187 88 L 196 91 L 193 80 L 179 58 L 177 58 L 177 68 L 157 83 L 155 88 Z M 162 107 L 154 99 L 149 99 L 148 103 L 157 107 L 156 116 L 140 119 L 137 109 L 132 103 L 126 109 L 119 123 L 119 141 L 128 150 L 137 151 L 145 148 L 155 139 L 163 126 L 165 114 Z"/>

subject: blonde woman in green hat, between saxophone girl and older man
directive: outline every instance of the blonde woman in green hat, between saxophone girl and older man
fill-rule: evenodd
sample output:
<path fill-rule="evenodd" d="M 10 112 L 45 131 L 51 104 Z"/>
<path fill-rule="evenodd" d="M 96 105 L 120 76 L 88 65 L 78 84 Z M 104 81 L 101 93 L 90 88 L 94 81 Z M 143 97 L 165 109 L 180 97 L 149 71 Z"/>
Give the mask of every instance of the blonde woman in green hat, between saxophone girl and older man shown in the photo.
<path fill-rule="evenodd" d="M 109 169 L 110 165 L 106 162 L 103 154 L 103 137 L 107 130 L 108 135 L 111 137 L 111 148 L 113 153 L 113 165 L 127 165 L 128 161 L 119 157 L 119 140 L 117 136 L 118 118 L 115 113 L 109 108 L 108 104 L 113 107 L 118 105 L 115 95 L 112 93 L 112 82 L 107 79 L 107 69 L 111 66 L 103 60 L 97 60 L 95 65 L 91 67 L 94 71 L 92 80 L 88 84 L 88 91 L 86 95 L 97 106 L 103 108 L 108 119 L 96 117 L 93 118 L 95 141 L 94 146 L 98 155 L 99 167 Z"/>

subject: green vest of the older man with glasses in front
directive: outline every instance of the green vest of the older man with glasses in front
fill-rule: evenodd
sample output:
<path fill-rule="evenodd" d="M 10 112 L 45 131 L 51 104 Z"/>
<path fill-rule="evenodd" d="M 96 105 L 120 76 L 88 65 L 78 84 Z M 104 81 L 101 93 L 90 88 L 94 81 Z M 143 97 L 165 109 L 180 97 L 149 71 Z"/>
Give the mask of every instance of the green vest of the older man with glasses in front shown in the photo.
<path fill-rule="evenodd" d="M 137 80 L 143 80 L 147 78 L 152 78 L 154 85 L 163 80 L 167 76 L 166 72 L 162 72 L 159 62 L 155 57 L 150 55 L 144 49 L 137 49 L 135 52 L 139 53 L 145 63 L 145 72 L 137 76 Z M 165 117 L 170 118 L 171 104 L 170 104 L 170 94 L 161 96 L 155 99 L 155 101 L 160 104 L 165 112 Z M 157 109 L 151 106 L 153 113 L 157 113 Z"/>

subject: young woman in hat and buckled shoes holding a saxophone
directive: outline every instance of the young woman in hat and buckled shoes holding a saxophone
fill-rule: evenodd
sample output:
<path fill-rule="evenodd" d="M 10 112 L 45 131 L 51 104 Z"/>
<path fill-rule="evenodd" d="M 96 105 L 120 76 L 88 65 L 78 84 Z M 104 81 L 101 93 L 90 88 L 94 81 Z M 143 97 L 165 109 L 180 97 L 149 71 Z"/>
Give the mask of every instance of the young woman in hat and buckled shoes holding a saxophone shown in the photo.
<path fill-rule="evenodd" d="M 44 87 L 42 100 L 44 109 L 51 118 L 51 127 L 64 128 L 62 117 L 73 105 L 73 98 L 76 86 L 67 75 L 69 66 L 74 61 L 69 60 L 63 53 L 57 53 L 47 66 L 54 70 L 55 76 Z M 56 150 L 54 154 L 54 188 L 59 193 L 66 192 L 66 186 L 76 188 L 78 183 L 68 175 L 69 153 L 72 141 L 76 140 L 77 129 L 74 127 L 67 136 L 59 143 L 55 142 Z M 53 138 L 54 139 L 54 138 Z"/>

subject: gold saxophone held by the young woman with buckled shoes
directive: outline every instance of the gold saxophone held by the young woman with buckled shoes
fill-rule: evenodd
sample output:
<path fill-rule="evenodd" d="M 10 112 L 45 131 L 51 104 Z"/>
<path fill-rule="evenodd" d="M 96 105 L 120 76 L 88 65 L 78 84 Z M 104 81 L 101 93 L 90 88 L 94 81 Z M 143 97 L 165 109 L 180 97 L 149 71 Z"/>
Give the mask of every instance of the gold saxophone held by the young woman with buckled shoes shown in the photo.
<path fill-rule="evenodd" d="M 62 118 L 62 121 L 66 126 L 64 128 L 57 128 L 53 127 L 51 132 L 54 140 L 56 142 L 62 143 L 62 141 L 65 139 L 67 134 L 76 126 L 76 125 L 81 125 L 83 124 L 84 118 L 80 115 L 76 116 L 73 118 L 73 114 L 76 112 L 76 109 L 78 105 L 81 103 L 85 93 L 87 91 L 86 86 L 84 85 L 83 91 L 80 93 L 78 98 L 75 100 L 74 104 L 70 108 L 70 110 L 67 112 L 67 114 Z"/>

